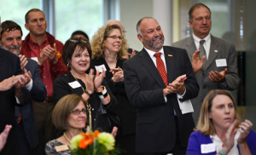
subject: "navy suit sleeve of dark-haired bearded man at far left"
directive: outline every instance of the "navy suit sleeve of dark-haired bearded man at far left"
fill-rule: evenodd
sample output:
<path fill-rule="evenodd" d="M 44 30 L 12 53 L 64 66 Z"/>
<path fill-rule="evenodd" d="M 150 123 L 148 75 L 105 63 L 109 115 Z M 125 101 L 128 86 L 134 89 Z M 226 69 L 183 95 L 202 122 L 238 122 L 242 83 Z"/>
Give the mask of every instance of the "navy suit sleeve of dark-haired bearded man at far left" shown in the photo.
<path fill-rule="evenodd" d="M 32 95 L 32 100 L 41 102 L 44 101 L 46 98 L 47 92 L 45 89 L 45 85 L 42 82 L 42 79 L 40 78 L 40 72 L 38 68 L 38 64 L 36 61 L 31 60 L 31 64 L 33 68 L 32 72 L 32 90 L 31 90 L 31 95 Z"/>

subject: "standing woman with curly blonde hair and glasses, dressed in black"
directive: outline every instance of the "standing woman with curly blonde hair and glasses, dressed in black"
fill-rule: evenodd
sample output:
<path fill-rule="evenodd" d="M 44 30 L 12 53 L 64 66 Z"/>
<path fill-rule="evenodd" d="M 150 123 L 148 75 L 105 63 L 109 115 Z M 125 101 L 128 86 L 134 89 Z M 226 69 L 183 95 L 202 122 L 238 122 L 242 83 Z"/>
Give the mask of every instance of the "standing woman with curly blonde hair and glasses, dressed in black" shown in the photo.
<path fill-rule="evenodd" d="M 135 154 L 136 111 L 131 107 L 125 93 L 122 65 L 127 55 L 127 41 L 118 25 L 105 25 L 100 28 L 91 41 L 91 67 L 106 71 L 106 81 L 113 95 L 118 99 L 117 115 L 121 126 L 116 137 L 124 154 Z"/>

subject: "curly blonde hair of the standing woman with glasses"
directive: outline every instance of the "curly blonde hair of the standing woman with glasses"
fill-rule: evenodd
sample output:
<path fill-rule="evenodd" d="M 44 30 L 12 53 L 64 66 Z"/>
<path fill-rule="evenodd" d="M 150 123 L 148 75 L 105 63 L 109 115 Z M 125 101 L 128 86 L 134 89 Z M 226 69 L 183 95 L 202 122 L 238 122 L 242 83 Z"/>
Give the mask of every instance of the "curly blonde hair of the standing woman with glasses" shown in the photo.
<path fill-rule="evenodd" d="M 122 33 L 121 28 L 118 25 L 104 25 L 102 26 L 102 28 L 100 28 L 96 34 L 92 37 L 91 40 L 91 50 L 92 50 L 92 58 L 96 58 L 96 59 L 100 59 L 100 58 L 104 58 L 104 50 L 105 50 L 105 45 L 104 45 L 104 41 L 107 39 L 110 31 L 112 31 L 113 29 L 118 29 L 121 33 L 121 36 L 124 37 L 124 39 L 122 40 L 122 47 L 118 53 L 117 59 L 118 60 L 122 60 L 123 56 L 127 55 L 127 49 L 128 49 L 128 45 L 127 45 L 127 40 L 124 36 L 124 34 Z"/>

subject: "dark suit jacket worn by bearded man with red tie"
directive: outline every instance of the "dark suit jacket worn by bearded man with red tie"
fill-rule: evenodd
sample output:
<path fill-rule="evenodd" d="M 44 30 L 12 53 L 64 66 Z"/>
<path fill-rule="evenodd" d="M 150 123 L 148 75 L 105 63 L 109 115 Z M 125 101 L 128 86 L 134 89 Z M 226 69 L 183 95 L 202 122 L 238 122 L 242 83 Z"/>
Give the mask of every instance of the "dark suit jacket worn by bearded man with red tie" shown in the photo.
<path fill-rule="evenodd" d="M 184 49 L 164 46 L 168 83 L 186 74 L 183 100 L 194 98 L 199 91 L 189 57 Z M 154 62 L 143 49 L 123 64 L 125 89 L 132 106 L 137 108 L 137 152 L 169 152 L 175 146 L 177 132 L 183 147 L 195 127 L 191 113 L 182 114 L 177 95 L 163 95 L 166 85 Z M 178 131 L 175 116 L 177 113 Z"/>

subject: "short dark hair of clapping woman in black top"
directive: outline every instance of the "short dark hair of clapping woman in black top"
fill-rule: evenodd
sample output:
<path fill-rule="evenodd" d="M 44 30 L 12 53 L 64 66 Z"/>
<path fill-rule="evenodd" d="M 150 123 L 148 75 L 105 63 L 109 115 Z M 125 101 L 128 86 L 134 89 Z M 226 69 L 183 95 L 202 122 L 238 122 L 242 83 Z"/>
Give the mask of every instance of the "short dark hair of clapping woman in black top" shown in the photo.
<path fill-rule="evenodd" d="M 77 47 L 79 47 L 79 53 L 82 53 L 84 49 L 87 49 L 91 58 L 91 49 L 88 40 L 84 40 L 82 37 L 71 37 L 67 40 L 62 49 L 62 60 L 68 70 L 70 70 L 68 64 L 71 62 L 72 55 Z"/>

